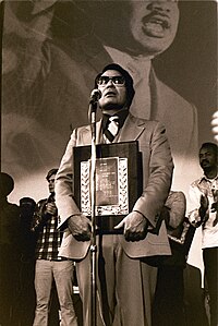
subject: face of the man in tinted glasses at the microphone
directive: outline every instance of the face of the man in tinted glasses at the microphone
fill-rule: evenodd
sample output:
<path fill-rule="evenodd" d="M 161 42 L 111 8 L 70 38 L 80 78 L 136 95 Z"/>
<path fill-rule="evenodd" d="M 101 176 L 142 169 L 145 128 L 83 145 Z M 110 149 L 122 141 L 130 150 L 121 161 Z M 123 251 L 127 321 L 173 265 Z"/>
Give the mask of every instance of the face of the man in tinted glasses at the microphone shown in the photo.
<path fill-rule="evenodd" d="M 126 105 L 126 87 L 125 84 L 120 84 L 119 79 L 122 77 L 121 73 L 116 70 L 107 70 L 101 75 L 106 80 L 102 84 L 98 84 L 98 89 L 101 92 L 99 99 L 99 107 L 102 112 L 118 111 Z M 106 79 L 104 79 L 106 77 Z M 110 77 L 107 82 L 107 77 Z M 111 80 L 113 77 L 113 80 Z M 117 81 L 118 80 L 118 81 Z M 117 81 L 117 82 L 116 82 Z"/>

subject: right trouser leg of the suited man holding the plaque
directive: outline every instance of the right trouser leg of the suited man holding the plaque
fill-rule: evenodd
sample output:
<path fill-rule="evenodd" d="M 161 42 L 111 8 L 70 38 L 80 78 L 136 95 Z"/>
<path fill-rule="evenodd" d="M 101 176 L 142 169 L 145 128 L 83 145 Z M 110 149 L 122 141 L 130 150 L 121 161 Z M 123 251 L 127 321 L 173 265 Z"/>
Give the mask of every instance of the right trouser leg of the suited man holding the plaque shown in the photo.
<path fill-rule="evenodd" d="M 150 326 L 157 268 L 138 258 L 130 258 L 120 246 L 116 271 L 120 324 L 114 321 L 113 325 Z"/>

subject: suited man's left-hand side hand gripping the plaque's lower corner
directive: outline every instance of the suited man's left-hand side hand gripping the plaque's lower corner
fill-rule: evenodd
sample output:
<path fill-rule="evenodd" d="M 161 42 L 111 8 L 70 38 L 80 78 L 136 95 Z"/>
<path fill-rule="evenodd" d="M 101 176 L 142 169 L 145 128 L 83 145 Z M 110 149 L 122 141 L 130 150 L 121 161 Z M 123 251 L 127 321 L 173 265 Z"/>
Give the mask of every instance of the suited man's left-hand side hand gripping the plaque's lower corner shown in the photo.
<path fill-rule="evenodd" d="M 90 240 L 90 220 L 85 215 L 71 216 L 68 219 L 68 227 L 77 241 Z"/>

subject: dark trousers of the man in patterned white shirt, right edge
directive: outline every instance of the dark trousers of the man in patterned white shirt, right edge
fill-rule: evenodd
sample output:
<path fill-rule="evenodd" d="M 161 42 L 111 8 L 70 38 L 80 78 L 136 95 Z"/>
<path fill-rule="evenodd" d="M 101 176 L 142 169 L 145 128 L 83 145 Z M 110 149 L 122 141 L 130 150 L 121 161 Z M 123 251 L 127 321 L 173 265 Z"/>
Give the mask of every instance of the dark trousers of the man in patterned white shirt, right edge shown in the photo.
<path fill-rule="evenodd" d="M 210 326 L 218 325 L 218 247 L 203 250 L 205 278 L 209 292 Z"/>

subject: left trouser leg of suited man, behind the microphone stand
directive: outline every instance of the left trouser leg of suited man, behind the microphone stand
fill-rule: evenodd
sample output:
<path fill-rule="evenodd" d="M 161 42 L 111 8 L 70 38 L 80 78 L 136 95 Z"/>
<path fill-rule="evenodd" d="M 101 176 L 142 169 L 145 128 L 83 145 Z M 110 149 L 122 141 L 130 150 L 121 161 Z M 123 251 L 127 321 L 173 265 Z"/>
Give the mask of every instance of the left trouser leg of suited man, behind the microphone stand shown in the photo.
<path fill-rule="evenodd" d="M 83 302 L 83 326 L 90 326 L 90 252 L 76 263 L 76 274 Z M 113 236 L 97 237 L 96 281 L 97 325 L 109 326 L 112 325 L 116 306 Z"/>

